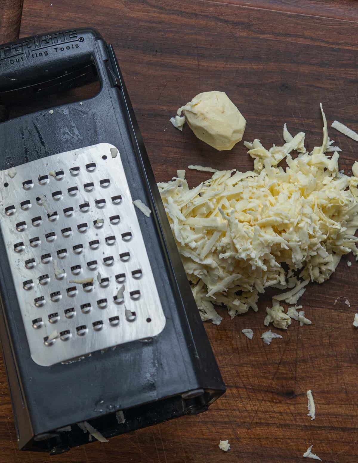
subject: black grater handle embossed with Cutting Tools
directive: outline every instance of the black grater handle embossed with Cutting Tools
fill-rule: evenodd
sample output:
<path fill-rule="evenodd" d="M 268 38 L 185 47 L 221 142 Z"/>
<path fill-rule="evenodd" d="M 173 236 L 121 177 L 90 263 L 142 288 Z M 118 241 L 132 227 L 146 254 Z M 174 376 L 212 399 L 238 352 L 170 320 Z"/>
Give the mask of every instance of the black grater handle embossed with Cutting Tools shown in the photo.
<path fill-rule="evenodd" d="M 106 85 L 104 42 L 91 28 L 58 31 L 0 45 L 0 104 L 19 89 L 55 85 L 79 69 L 96 67 Z M 67 76 L 67 77 L 66 77 Z M 42 87 L 41 87 L 42 86 Z M 54 93 L 56 88 L 54 88 Z"/>

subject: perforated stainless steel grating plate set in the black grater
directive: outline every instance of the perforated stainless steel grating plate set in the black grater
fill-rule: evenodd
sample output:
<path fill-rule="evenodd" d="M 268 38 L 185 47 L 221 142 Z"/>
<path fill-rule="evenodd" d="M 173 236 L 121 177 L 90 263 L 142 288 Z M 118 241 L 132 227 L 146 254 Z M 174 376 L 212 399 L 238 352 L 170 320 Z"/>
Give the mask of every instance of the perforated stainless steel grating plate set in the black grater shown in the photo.
<path fill-rule="evenodd" d="M 159 334 L 165 317 L 141 212 L 116 148 L 68 151 L 9 174 L 0 172 L 0 227 L 34 362 Z"/>

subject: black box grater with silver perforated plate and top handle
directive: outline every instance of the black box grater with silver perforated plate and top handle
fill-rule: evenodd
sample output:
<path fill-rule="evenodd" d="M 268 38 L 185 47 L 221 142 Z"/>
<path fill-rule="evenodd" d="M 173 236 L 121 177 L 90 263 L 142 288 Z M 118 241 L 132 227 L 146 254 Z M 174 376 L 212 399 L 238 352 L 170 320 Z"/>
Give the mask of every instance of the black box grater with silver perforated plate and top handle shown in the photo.
<path fill-rule="evenodd" d="M 93 98 L 50 106 L 95 78 Z M 39 96 L 0 124 L 0 334 L 19 448 L 57 454 L 225 386 L 112 46 L 92 29 L 1 45 L 0 105 Z"/>

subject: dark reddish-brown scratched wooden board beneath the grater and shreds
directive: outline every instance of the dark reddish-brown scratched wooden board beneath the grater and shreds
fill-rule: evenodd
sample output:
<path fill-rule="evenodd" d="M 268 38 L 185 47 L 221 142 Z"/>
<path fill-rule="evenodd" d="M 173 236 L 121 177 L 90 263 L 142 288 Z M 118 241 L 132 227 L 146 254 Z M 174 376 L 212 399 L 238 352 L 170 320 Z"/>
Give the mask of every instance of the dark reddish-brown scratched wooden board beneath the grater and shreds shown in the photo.
<path fill-rule="evenodd" d="M 195 139 L 188 127 L 181 133 L 170 125 L 177 107 L 201 91 L 226 91 L 247 119 L 245 139 L 260 138 L 268 147 L 282 142 L 284 122 L 293 133 L 306 132 L 309 150 L 320 144 L 320 102 L 329 123 L 338 119 L 358 130 L 358 24 L 352 2 L 240 3 L 25 0 L 21 35 L 93 25 L 114 45 L 158 181 L 189 163 L 252 168 L 242 144 L 220 153 Z M 265 3 L 267 10 L 253 7 Z M 332 19 L 335 13 L 348 21 Z M 333 129 L 330 135 L 343 150 L 341 169 L 347 172 L 358 158 L 358 145 Z M 205 178 L 188 172 L 192 186 Z M 270 346 L 260 339 L 269 294 L 259 313 L 230 320 L 221 309 L 221 325 L 206 328 L 226 394 L 207 413 L 107 444 L 51 458 L 16 450 L 1 364 L 0 461 L 294 463 L 311 444 L 323 462 L 357 461 L 358 333 L 352 321 L 358 275 L 356 264 L 348 268 L 346 262 L 329 282 L 309 285 L 301 298 L 312 325 L 293 321 Z M 351 307 L 344 299 L 334 305 L 341 295 Z M 254 330 L 252 341 L 241 334 L 243 328 Z M 308 389 L 316 403 L 314 421 L 307 416 Z M 228 454 L 218 449 L 220 439 L 229 439 Z"/>

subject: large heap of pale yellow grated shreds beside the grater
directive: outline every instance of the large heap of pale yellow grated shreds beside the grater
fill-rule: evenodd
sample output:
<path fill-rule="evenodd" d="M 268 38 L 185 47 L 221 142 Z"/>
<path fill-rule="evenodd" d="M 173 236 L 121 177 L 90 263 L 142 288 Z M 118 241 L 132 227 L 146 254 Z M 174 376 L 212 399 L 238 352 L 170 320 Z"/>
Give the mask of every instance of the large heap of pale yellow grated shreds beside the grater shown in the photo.
<path fill-rule="evenodd" d="M 203 320 L 220 323 L 213 304 L 226 306 L 231 318 L 250 307 L 257 311 L 259 294 L 274 287 L 286 291 L 266 309 L 265 325 L 285 329 L 289 314 L 308 324 L 296 311 L 301 306 L 287 314 L 280 301 L 296 304 L 309 281 L 329 279 L 342 255 L 358 256 L 358 176 L 339 172 L 340 149 L 332 146 L 320 107 L 323 143 L 311 153 L 305 134 L 292 137 L 285 124 L 283 146 L 266 150 L 260 140 L 245 142 L 252 171 L 215 171 L 193 189 L 185 170 L 158 183 Z M 295 159 L 292 151 L 299 152 Z M 277 167 L 283 159 L 286 169 Z"/>

